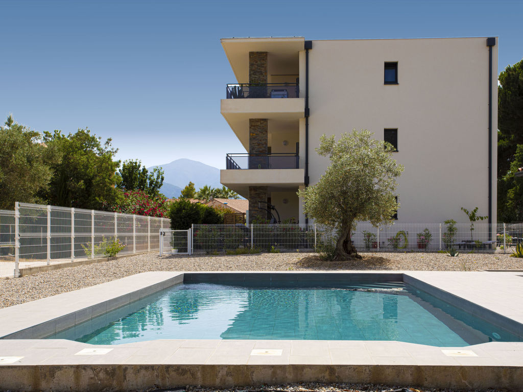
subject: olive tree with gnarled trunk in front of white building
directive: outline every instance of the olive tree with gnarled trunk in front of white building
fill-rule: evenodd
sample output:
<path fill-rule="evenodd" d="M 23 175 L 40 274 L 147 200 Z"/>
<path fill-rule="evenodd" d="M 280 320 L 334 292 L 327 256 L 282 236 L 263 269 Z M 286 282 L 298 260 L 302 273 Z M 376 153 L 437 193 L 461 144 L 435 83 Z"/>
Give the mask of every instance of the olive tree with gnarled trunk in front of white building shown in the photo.
<path fill-rule="evenodd" d="M 391 157 L 392 144 L 372 139 L 367 130 L 320 138 L 316 152 L 331 159 L 325 174 L 300 190 L 303 211 L 337 235 L 335 259 L 361 258 L 351 241 L 358 221 L 391 223 L 396 203 L 396 178 L 403 172 Z"/>

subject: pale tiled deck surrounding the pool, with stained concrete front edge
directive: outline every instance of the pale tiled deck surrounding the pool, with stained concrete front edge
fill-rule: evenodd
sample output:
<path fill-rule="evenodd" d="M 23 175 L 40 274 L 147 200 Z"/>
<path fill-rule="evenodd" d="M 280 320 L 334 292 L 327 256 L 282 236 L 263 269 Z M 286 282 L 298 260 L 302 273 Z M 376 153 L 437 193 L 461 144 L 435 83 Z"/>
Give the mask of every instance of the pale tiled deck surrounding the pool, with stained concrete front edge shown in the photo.
<path fill-rule="evenodd" d="M 214 274 L 235 274 L 240 279 L 242 274 L 253 273 L 258 274 Z M 523 337 L 523 272 L 259 273 L 275 279 L 284 274 L 299 274 L 298 279 L 307 274 L 400 278 Z M 345 382 L 523 391 L 523 342 L 441 348 L 397 341 L 154 340 L 92 345 L 41 339 L 183 279 L 183 272 L 145 272 L 0 309 L 0 389 L 132 390 L 155 385 Z"/>

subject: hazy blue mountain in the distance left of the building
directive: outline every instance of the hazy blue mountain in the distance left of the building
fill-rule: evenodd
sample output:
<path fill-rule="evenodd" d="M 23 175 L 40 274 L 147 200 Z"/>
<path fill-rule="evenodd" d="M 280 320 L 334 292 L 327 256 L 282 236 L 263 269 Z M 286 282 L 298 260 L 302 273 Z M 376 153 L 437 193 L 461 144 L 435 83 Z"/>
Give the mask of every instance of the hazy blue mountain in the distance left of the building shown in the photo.
<path fill-rule="evenodd" d="M 222 187 L 220 183 L 220 169 L 203 164 L 197 160 L 181 158 L 165 165 L 149 167 L 147 170 L 151 171 L 155 167 L 161 167 L 164 170 L 164 187 L 166 185 L 170 187 L 175 186 L 181 190 L 185 188 L 189 181 L 195 183 L 196 190 L 204 185 L 209 185 L 213 188 Z M 160 191 L 164 193 L 163 190 L 164 188 L 162 187 Z M 169 196 L 167 193 L 164 194 Z M 177 195 L 179 195 L 179 191 Z"/>

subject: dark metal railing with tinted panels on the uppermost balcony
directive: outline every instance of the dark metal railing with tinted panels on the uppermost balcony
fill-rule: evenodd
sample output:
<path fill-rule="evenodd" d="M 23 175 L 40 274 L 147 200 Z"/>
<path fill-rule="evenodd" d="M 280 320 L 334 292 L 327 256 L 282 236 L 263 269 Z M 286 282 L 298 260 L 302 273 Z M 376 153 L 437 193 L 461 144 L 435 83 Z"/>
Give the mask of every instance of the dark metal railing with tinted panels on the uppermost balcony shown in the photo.
<path fill-rule="evenodd" d="M 299 98 L 297 83 L 237 83 L 227 85 L 227 99 L 237 98 Z"/>

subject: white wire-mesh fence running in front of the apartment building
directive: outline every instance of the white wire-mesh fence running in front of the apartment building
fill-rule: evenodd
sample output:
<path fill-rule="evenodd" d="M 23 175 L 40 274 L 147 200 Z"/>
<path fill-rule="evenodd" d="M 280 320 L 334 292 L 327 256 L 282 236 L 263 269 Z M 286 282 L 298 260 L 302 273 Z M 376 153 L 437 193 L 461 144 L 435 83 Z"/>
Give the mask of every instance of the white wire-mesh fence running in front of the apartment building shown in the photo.
<path fill-rule="evenodd" d="M 332 242 L 333 233 L 320 225 L 193 225 L 191 251 L 237 248 L 260 251 L 314 251 Z M 456 248 L 462 252 L 512 252 L 523 243 L 523 224 L 396 223 L 374 227 L 359 223 L 351 234 L 358 251 L 430 252 Z"/>

